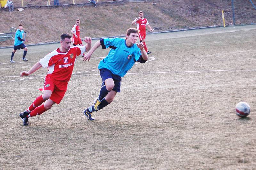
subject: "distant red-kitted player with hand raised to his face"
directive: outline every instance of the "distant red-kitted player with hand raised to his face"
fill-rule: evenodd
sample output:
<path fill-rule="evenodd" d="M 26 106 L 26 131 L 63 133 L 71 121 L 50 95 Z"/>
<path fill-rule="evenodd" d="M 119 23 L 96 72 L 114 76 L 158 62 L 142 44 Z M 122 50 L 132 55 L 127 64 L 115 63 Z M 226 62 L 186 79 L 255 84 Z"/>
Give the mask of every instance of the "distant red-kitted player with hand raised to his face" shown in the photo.
<path fill-rule="evenodd" d="M 148 20 L 143 17 L 144 13 L 142 11 L 139 12 L 139 17 L 135 18 L 134 21 L 132 21 L 133 24 L 137 24 L 137 29 L 139 30 L 139 38 L 140 42 L 144 44 L 144 49 L 146 50 L 147 54 L 150 54 L 151 52 L 148 51 L 148 48 L 146 46 L 146 26 L 150 29 L 150 31 L 153 31 L 151 26 L 148 24 Z"/>

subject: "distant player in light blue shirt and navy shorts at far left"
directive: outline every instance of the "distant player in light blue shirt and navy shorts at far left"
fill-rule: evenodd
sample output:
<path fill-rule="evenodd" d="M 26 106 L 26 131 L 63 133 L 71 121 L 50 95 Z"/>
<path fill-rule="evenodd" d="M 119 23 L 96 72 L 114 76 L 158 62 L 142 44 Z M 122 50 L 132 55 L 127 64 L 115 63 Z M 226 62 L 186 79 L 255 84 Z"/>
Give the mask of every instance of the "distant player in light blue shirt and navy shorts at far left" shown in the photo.
<path fill-rule="evenodd" d="M 22 39 L 23 38 L 23 33 L 24 33 L 24 31 L 22 29 L 23 29 L 23 26 L 20 24 L 19 29 L 16 31 L 16 34 L 15 34 L 14 48 L 13 48 L 12 55 L 11 55 L 11 60 L 10 60 L 11 63 L 15 63 L 15 61 L 13 61 L 13 56 L 14 56 L 14 53 L 17 51 L 17 49 L 24 49 L 22 60 L 23 61 L 28 61 L 28 59 L 25 58 L 25 56 L 27 54 L 27 51 L 28 51 L 28 48 L 23 43 L 23 41 L 28 42 L 28 40 L 23 40 Z"/>

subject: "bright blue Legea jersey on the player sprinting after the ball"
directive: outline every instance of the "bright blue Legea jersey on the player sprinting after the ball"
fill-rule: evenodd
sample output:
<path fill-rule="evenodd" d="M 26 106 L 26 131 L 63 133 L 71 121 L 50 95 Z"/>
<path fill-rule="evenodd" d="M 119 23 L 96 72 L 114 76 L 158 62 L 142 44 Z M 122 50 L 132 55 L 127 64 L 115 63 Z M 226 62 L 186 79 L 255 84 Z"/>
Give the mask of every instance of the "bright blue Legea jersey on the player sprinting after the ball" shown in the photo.
<path fill-rule="evenodd" d="M 123 38 L 100 39 L 103 49 L 110 47 L 108 55 L 100 61 L 98 69 L 106 68 L 113 74 L 124 77 L 135 62 L 145 63 L 141 56 L 140 48 L 136 44 L 128 47 Z"/>

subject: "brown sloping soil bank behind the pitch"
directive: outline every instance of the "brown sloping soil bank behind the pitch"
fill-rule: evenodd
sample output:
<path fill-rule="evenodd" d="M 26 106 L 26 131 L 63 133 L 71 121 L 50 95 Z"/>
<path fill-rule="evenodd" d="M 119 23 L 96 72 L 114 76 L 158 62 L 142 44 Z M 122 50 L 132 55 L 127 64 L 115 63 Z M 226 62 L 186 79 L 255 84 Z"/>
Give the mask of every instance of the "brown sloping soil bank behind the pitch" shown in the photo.
<path fill-rule="evenodd" d="M 256 22 L 256 10 L 250 1 L 236 0 L 236 25 Z M 126 29 L 135 27 L 132 20 L 144 11 L 150 26 L 157 31 L 223 25 L 221 11 L 225 11 L 226 25 L 233 25 L 230 0 L 148 0 L 145 3 L 99 4 L 93 6 L 59 6 L 25 8 L 9 13 L 0 10 L 0 32 L 10 32 L 11 27 L 23 24 L 31 43 L 59 41 L 63 32 L 70 33 L 76 19 L 81 20 L 81 36 L 105 37 L 124 35 Z M 13 40 L 0 42 L 12 46 Z"/>

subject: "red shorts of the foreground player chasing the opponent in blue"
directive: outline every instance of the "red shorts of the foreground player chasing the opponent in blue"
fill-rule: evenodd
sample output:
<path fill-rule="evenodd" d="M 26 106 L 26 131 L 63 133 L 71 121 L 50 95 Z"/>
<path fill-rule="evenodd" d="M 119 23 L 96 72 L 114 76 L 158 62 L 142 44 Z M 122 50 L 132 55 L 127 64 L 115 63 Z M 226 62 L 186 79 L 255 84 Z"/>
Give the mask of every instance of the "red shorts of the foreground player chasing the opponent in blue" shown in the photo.
<path fill-rule="evenodd" d="M 59 104 L 67 91 L 67 86 L 68 86 L 67 81 L 58 81 L 49 76 L 46 76 L 44 81 L 43 91 L 51 90 L 52 95 L 50 99 L 55 103 Z"/>

